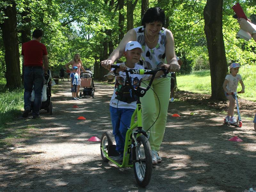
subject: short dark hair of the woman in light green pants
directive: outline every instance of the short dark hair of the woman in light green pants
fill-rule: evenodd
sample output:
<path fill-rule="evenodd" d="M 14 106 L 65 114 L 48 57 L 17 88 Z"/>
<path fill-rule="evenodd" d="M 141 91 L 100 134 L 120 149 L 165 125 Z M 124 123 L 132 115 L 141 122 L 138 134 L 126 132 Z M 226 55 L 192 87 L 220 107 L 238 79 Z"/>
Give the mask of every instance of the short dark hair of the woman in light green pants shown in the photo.
<path fill-rule="evenodd" d="M 143 25 L 143 27 L 146 27 L 146 23 L 151 23 L 154 21 L 160 21 L 163 23 L 163 25 L 165 24 L 165 14 L 164 14 L 164 10 L 159 8 L 159 7 L 151 7 L 149 8 L 141 21 L 141 24 Z"/>

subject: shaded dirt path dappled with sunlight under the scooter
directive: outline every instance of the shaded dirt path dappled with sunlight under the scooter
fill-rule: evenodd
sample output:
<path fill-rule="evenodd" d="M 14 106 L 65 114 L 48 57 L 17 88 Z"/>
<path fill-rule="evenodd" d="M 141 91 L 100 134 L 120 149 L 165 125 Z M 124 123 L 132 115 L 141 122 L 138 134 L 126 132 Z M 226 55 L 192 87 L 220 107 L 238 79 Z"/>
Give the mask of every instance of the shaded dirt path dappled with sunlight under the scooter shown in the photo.
<path fill-rule="evenodd" d="M 18 118 L 9 124 L 0 135 L 12 143 L 0 148 L 0 192 L 241 192 L 256 187 L 252 121 L 229 127 L 219 111 L 180 101 L 169 105 L 163 162 L 153 168 L 147 188 L 138 188 L 133 169 L 102 162 L 100 143 L 87 141 L 112 129 L 113 86 L 96 83 L 95 89 L 95 98 L 74 102 L 69 83 L 60 82 L 52 94 L 52 116 L 42 111 L 39 120 Z M 75 104 L 79 108 L 72 108 Z M 25 136 L 8 139 L 15 130 Z M 235 135 L 243 142 L 228 141 Z"/>

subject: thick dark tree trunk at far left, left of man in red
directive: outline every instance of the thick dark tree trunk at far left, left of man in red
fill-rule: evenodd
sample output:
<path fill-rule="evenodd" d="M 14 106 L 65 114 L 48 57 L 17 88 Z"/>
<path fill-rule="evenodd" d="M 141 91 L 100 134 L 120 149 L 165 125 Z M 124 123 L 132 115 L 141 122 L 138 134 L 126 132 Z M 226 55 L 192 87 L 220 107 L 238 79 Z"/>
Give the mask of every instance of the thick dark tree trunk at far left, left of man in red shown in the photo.
<path fill-rule="evenodd" d="M 12 6 L 6 7 L 4 14 L 7 19 L 0 25 L 3 34 L 3 42 L 5 48 L 5 64 L 6 64 L 6 87 L 10 90 L 20 88 L 20 54 L 17 36 L 17 17 L 16 4 L 11 1 Z"/>

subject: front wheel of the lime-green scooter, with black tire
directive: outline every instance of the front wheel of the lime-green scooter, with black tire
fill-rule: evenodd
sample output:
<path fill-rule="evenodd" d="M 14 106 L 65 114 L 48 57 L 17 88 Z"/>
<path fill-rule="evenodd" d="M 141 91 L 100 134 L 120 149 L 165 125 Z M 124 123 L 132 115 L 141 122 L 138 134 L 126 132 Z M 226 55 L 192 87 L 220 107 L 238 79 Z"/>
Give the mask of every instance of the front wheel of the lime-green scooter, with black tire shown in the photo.
<path fill-rule="evenodd" d="M 144 135 L 137 138 L 138 145 L 132 148 L 133 171 L 140 187 L 146 187 L 152 174 L 152 153 Z"/>

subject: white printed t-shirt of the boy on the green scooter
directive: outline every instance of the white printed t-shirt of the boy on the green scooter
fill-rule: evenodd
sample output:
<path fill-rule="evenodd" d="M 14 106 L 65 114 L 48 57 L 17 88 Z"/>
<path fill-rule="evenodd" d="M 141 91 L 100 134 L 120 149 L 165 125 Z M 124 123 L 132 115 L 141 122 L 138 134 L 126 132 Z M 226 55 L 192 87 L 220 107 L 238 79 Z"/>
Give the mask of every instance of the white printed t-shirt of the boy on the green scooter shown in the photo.
<path fill-rule="evenodd" d="M 121 63 L 117 63 L 116 65 L 120 65 Z M 137 63 L 134 65 L 134 68 L 127 68 L 127 70 L 129 69 L 144 69 L 144 67 L 142 65 L 138 65 Z M 148 79 L 150 75 L 138 75 L 138 74 L 129 74 L 130 77 L 132 77 L 132 85 L 136 84 L 137 82 L 141 82 L 142 79 Z M 115 83 L 115 88 L 114 88 L 114 93 L 111 97 L 110 103 L 109 105 L 115 108 L 129 108 L 129 109 L 136 109 L 136 99 L 134 99 L 133 102 L 131 103 L 126 103 L 123 102 L 122 99 L 118 100 L 117 94 L 118 91 L 123 87 L 123 85 L 125 84 L 125 79 L 126 79 L 126 75 L 125 72 L 120 71 L 119 72 L 119 76 L 115 77 L 116 79 L 116 83 Z M 134 85 L 134 86 L 140 86 L 140 83 Z M 118 105 L 117 105 L 118 102 Z"/>

